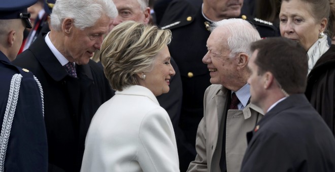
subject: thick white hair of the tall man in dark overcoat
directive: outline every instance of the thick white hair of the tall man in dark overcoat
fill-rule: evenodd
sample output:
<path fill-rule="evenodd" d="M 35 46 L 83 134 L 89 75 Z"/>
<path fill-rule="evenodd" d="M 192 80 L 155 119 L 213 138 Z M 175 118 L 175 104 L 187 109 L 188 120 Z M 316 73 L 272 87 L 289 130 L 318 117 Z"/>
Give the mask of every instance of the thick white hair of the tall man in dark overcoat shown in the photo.
<path fill-rule="evenodd" d="M 117 16 L 112 0 L 57 0 L 52 9 L 51 27 L 59 31 L 63 20 L 70 17 L 75 27 L 84 30 L 106 14 L 110 18 Z"/>

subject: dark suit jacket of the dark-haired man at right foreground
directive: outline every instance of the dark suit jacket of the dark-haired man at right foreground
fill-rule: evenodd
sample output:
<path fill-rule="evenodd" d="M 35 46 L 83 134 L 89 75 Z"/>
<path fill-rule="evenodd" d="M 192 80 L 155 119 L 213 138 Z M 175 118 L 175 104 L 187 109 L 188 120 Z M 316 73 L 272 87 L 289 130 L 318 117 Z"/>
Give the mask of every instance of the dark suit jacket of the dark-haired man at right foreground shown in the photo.
<path fill-rule="evenodd" d="M 303 94 L 290 95 L 248 133 L 241 171 L 335 171 L 335 139 Z"/>

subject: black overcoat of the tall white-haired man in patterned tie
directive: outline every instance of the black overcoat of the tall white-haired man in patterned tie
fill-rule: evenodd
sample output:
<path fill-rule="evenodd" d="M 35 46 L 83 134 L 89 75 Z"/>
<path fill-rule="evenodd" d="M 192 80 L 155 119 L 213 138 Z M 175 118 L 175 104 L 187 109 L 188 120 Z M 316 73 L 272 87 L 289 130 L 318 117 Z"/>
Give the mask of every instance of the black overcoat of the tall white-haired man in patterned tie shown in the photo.
<path fill-rule="evenodd" d="M 79 171 L 91 119 L 112 96 L 103 70 L 93 61 L 76 65 L 68 75 L 39 36 L 14 64 L 32 71 L 44 88 L 44 111 L 49 146 L 49 171 Z"/>

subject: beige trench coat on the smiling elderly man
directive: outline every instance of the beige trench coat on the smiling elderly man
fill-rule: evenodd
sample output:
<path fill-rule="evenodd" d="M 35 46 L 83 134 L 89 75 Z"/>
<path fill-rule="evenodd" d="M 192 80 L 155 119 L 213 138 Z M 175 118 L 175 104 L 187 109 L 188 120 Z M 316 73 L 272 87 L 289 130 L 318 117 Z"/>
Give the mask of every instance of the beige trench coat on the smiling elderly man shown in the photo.
<path fill-rule="evenodd" d="M 221 171 L 219 162 L 222 151 L 222 136 L 226 125 L 225 157 L 227 171 L 240 171 L 247 149 L 246 133 L 261 119 L 262 110 L 248 104 L 243 110 L 226 110 L 228 93 L 220 84 L 212 84 L 205 92 L 204 117 L 200 121 L 196 136 L 195 160 L 187 171 Z M 227 111 L 227 114 L 225 112 Z M 225 117 L 227 117 L 226 123 Z M 223 155 L 224 156 L 224 155 Z"/>

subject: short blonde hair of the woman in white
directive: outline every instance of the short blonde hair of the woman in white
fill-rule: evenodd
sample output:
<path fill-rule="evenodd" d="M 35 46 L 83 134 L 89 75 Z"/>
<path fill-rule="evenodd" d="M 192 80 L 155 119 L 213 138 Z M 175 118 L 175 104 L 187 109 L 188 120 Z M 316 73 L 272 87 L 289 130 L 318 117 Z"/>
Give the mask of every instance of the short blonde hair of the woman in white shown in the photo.
<path fill-rule="evenodd" d="M 157 53 L 171 42 L 171 31 L 134 21 L 117 25 L 105 38 L 100 59 L 112 88 L 138 84 L 137 73 L 149 72 Z"/>

